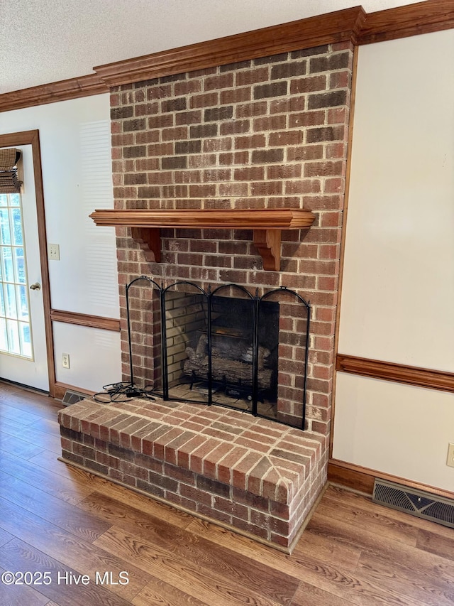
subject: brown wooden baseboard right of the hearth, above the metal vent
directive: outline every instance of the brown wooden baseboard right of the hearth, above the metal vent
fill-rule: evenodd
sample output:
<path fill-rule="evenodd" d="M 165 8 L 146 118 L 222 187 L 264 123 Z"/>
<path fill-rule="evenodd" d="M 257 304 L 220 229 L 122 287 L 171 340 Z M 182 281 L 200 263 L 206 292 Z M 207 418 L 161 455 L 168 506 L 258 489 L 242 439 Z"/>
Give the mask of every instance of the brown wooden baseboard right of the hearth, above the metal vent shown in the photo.
<path fill-rule="evenodd" d="M 331 482 L 331 484 L 338 484 L 358 492 L 372 494 L 376 477 L 380 480 L 395 482 L 396 484 L 412 489 L 430 492 L 431 494 L 438 495 L 438 497 L 454 499 L 454 492 L 450 492 L 449 490 L 421 484 L 421 482 L 414 482 L 413 480 L 407 480 L 406 478 L 391 475 L 389 473 L 368 469 L 367 467 L 361 467 L 360 465 L 353 465 L 353 463 L 338 459 L 330 459 L 328 461 L 328 482 Z"/>

